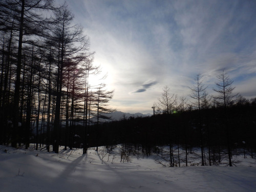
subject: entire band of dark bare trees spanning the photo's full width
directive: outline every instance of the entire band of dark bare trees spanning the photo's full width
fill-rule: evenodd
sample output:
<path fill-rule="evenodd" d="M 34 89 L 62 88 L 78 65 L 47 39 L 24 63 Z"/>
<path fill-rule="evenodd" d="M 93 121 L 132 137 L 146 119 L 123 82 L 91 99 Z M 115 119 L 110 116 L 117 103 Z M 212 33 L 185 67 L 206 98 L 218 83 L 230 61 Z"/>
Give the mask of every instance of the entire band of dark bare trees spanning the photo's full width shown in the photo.
<path fill-rule="evenodd" d="M 256 100 L 235 94 L 226 72 L 217 76 L 212 95 L 198 74 L 189 98 L 165 86 L 153 116 L 103 123 L 115 111 L 109 106 L 114 91 L 91 82 L 101 69 L 69 7 L 52 0 L 6 0 L 0 9 L 1 145 L 35 143 L 36 150 L 55 153 L 64 145 L 86 154 L 91 146 L 97 151 L 123 144 L 134 153 L 157 153 L 158 162 L 169 166 L 180 165 L 181 148 L 186 166 L 193 147 L 200 148 L 201 165 L 227 158 L 232 166 L 237 147 L 255 157 Z"/>

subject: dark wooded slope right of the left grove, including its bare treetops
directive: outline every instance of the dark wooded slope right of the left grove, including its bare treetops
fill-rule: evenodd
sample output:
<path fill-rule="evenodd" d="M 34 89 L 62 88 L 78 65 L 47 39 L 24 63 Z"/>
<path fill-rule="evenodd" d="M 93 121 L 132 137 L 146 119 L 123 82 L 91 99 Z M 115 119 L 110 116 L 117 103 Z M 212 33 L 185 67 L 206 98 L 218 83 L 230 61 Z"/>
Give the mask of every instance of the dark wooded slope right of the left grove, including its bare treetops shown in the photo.
<path fill-rule="evenodd" d="M 91 146 L 108 148 L 122 143 L 126 155 L 156 153 L 156 162 L 164 166 L 193 164 L 189 157 L 195 148 L 201 152 L 197 156 L 202 166 L 223 162 L 233 166 L 237 163 L 233 156 L 241 153 L 255 158 L 256 100 L 235 93 L 226 72 L 222 71 L 216 80 L 210 95 L 203 77 L 197 75 L 193 87 L 188 88 L 189 98 L 178 97 L 165 86 L 154 103 L 153 116 L 124 117 L 93 125 Z M 100 143 L 95 142 L 96 138 Z"/>

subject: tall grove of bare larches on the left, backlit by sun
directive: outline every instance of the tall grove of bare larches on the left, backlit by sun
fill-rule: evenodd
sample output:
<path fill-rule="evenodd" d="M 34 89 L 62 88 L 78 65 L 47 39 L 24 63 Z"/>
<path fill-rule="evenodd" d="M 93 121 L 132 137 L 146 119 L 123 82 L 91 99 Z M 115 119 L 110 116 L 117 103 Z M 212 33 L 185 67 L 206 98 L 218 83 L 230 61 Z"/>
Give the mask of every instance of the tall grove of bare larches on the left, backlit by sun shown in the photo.
<path fill-rule="evenodd" d="M 69 7 L 52 0 L 0 3 L 1 144 L 36 143 L 58 153 L 74 146 L 75 125 L 83 125 L 87 150 L 88 120 L 98 117 L 108 94 L 90 82 L 100 74 L 83 28 L 74 24 Z M 92 88 L 92 84 L 94 87 Z M 112 93 L 113 91 L 107 92 Z M 99 98 L 106 100 L 99 101 Z"/>

